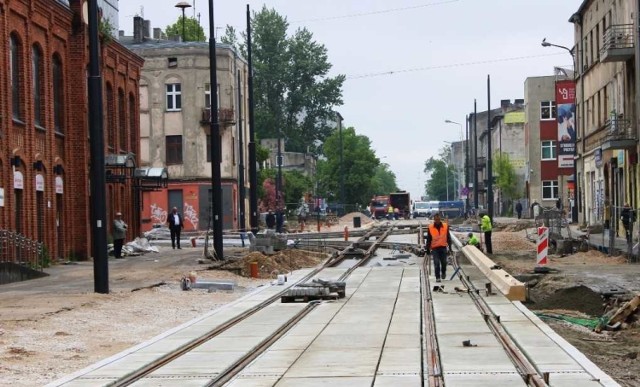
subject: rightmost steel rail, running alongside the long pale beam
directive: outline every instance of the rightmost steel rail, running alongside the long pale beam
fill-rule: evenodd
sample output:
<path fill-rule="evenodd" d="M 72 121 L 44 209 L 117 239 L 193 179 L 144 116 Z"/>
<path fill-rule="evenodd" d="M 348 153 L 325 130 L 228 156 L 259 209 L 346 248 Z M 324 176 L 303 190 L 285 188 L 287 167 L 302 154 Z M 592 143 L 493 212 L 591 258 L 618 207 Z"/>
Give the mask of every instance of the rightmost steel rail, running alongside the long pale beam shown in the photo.
<path fill-rule="evenodd" d="M 456 247 L 459 249 L 459 242 L 456 243 Z M 540 372 L 536 369 L 535 365 L 529 361 L 529 359 L 525 356 L 524 353 L 520 350 L 516 342 L 509 336 L 509 333 L 504 329 L 502 323 L 500 322 L 500 318 L 496 316 L 486 301 L 480 296 L 480 292 L 473 285 L 473 283 L 468 280 L 464 276 L 464 272 L 460 265 L 458 264 L 458 259 L 456 255 L 453 255 L 452 264 L 456 271 L 458 271 L 458 277 L 462 284 L 469 289 L 469 296 L 476 304 L 476 307 L 482 313 L 485 322 L 496 336 L 505 352 L 511 359 L 511 362 L 516 366 L 518 373 L 522 377 L 522 379 L 529 386 L 536 387 L 546 387 L 547 384 L 547 375 L 541 375 Z"/>

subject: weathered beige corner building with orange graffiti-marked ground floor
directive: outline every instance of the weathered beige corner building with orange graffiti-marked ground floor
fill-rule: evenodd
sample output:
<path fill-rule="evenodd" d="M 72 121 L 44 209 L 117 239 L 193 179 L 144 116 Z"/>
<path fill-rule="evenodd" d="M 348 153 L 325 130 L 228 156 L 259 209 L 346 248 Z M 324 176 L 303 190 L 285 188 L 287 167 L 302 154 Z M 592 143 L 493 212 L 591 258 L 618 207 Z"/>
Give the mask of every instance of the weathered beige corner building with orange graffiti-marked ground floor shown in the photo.
<path fill-rule="evenodd" d="M 121 39 L 122 41 L 122 39 Z M 145 58 L 140 82 L 140 143 L 141 159 L 145 166 L 167 167 L 169 187 L 159 195 L 168 195 L 171 190 L 183 190 L 186 199 L 189 184 L 208 185 L 211 182 L 211 162 L 207 160 L 211 133 L 210 124 L 203 122 L 205 110 L 205 85 L 210 83 L 209 48 L 202 42 L 127 42 L 127 47 Z M 248 174 L 248 101 L 247 65 L 229 46 L 219 45 L 216 50 L 218 101 L 220 109 L 221 174 L 224 180 L 223 216 L 225 229 L 241 228 L 239 222 L 240 164 L 244 164 L 245 191 L 249 184 Z M 175 65 L 169 65 L 169 63 Z M 238 83 L 238 71 L 240 82 Z M 169 111 L 166 101 L 166 85 L 180 83 L 182 106 L 179 111 Z M 240 95 L 239 95 L 240 93 Z M 215 94 L 214 94 L 215 95 Z M 240 97 L 240 109 L 238 101 Z M 242 134 L 240 134 L 240 124 Z M 182 162 L 167 163 L 167 136 L 182 136 Z M 240 143 L 242 137 L 242 144 Z M 240 146 L 243 159 L 240 162 Z M 189 182 L 189 183 L 187 183 Z M 187 184 L 187 185 L 185 185 Z M 189 186 L 190 187 L 190 186 Z M 226 191 L 225 191 L 226 190 Z M 151 195 L 157 198 L 157 194 Z M 165 199 L 166 200 L 166 199 Z M 154 201 L 143 202 L 143 230 L 150 229 L 150 216 Z M 248 201 L 245 200 L 245 206 Z M 193 205 L 199 219 L 199 228 L 206 229 L 208 208 Z M 208 206 L 207 206 L 208 207 Z M 245 207 L 246 208 L 246 207 Z M 245 211 L 248 212 L 248 211 Z M 248 227 L 249 217 L 246 217 Z M 185 227 L 187 225 L 185 224 Z"/>

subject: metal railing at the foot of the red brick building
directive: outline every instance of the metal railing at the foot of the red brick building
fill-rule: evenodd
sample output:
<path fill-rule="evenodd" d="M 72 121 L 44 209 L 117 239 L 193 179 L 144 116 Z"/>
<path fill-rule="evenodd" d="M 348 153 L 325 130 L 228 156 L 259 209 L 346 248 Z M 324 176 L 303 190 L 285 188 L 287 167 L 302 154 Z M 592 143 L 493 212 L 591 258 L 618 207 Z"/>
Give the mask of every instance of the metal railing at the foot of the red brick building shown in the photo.
<path fill-rule="evenodd" d="M 0 230 L 0 262 L 12 262 L 42 271 L 48 265 L 44 243 L 13 231 Z"/>

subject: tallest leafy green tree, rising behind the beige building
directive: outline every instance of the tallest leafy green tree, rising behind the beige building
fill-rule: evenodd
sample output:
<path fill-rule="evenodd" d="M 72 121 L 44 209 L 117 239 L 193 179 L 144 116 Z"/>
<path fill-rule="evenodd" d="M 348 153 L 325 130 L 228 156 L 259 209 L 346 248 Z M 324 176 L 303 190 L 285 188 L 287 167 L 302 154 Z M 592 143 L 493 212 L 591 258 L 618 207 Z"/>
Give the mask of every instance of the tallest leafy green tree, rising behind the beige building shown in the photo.
<path fill-rule="evenodd" d="M 315 153 L 309 146 L 324 142 L 335 127 L 345 78 L 328 76 L 327 49 L 306 28 L 287 36 L 287 19 L 266 6 L 251 23 L 256 135 L 284 137 L 289 151 Z M 246 56 L 242 36 L 245 42 L 238 45 L 236 31 L 227 26 L 221 40 Z"/>

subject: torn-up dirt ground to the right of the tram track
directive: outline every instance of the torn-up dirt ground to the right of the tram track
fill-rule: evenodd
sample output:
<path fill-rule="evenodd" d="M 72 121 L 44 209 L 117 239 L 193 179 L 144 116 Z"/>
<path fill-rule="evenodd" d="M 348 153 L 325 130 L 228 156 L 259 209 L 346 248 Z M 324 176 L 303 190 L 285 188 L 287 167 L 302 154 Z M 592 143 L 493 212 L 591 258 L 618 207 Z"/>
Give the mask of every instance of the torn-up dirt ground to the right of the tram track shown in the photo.
<path fill-rule="evenodd" d="M 535 274 L 535 245 L 526 231 L 494 232 L 492 259 L 529 284 L 534 312 L 597 319 L 640 293 L 640 265 L 628 264 L 590 250 L 549 256 L 548 274 Z M 603 296 L 603 293 L 606 296 Z M 589 328 L 543 318 L 556 332 L 582 351 L 623 386 L 640 386 L 640 312 L 619 331 L 594 333 Z"/>

